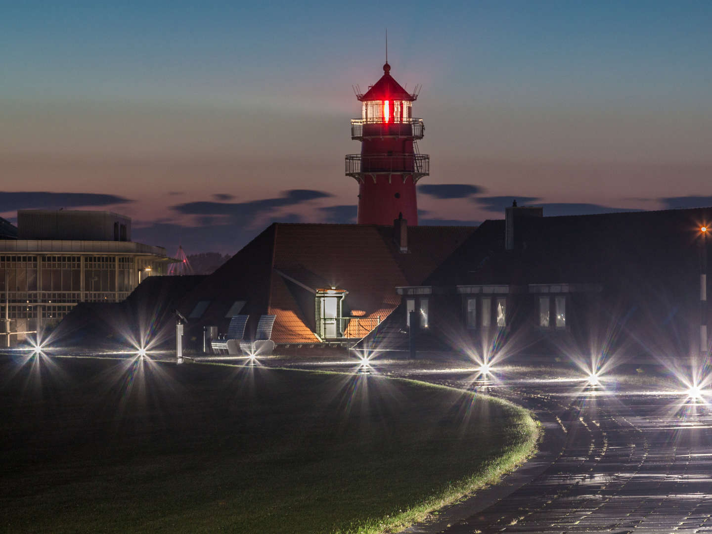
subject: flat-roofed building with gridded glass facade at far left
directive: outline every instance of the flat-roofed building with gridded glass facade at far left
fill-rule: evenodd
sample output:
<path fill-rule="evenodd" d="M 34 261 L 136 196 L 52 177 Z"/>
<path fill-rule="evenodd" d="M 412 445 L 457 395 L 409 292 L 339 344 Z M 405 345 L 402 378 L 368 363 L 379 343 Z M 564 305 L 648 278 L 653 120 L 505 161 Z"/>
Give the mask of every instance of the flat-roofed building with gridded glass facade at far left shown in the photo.
<path fill-rule="evenodd" d="M 16 232 L 0 234 L 6 346 L 58 323 L 80 302 L 124 300 L 174 261 L 163 247 L 131 241 L 131 219 L 110 211 L 21 209 L 17 220 Z"/>

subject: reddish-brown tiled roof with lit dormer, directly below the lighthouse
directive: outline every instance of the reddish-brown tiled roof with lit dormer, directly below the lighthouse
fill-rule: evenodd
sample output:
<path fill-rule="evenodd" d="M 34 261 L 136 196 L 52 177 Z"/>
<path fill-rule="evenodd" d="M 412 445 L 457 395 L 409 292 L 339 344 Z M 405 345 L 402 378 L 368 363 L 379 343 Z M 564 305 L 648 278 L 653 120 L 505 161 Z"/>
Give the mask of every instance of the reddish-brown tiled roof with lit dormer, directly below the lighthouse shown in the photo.
<path fill-rule="evenodd" d="M 278 343 L 318 342 L 313 291 L 343 288 L 345 314 L 384 319 L 396 308 L 397 286 L 417 285 L 469 236 L 473 226 L 409 226 L 409 253 L 399 253 L 392 226 L 367 224 L 272 224 L 197 286 L 181 311 L 201 300 L 210 305 L 190 328 L 225 331 L 226 312 L 245 300 L 247 335 L 260 315 L 276 315 Z"/>

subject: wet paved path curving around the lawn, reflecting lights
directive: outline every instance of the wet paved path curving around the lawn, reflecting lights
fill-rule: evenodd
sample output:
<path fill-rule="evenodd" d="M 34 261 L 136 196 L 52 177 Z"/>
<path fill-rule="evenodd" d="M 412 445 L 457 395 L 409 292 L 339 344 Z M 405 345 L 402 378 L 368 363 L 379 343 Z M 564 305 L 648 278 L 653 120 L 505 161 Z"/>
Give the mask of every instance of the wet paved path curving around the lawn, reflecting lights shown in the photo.
<path fill-rule="evenodd" d="M 471 369 L 392 362 L 374 372 L 486 390 L 532 409 L 546 429 L 523 469 L 409 533 L 712 533 L 706 404 L 655 387 L 590 388 L 530 370 L 504 372 L 489 385 Z"/>

